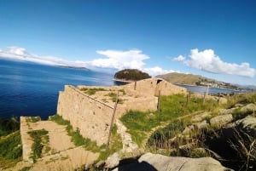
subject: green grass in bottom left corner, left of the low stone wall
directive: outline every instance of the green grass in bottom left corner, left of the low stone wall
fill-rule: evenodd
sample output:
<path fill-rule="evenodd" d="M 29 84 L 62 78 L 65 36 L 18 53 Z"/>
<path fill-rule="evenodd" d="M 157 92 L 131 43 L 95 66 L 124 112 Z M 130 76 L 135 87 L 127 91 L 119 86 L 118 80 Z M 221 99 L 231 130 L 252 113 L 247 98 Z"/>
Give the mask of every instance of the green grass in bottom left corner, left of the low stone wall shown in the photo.
<path fill-rule="evenodd" d="M 2 137 L 0 140 L 0 168 L 9 168 L 20 162 L 22 146 L 20 131 Z"/>

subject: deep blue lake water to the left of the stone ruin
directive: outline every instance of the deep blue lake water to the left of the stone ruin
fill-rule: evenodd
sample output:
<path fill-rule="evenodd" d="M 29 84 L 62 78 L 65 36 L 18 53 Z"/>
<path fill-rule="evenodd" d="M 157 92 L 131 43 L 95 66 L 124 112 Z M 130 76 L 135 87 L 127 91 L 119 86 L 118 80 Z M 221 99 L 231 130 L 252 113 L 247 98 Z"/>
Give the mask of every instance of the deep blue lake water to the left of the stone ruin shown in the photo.
<path fill-rule="evenodd" d="M 113 75 L 57 66 L 0 60 L 0 117 L 56 113 L 59 91 L 69 85 L 112 86 Z"/>

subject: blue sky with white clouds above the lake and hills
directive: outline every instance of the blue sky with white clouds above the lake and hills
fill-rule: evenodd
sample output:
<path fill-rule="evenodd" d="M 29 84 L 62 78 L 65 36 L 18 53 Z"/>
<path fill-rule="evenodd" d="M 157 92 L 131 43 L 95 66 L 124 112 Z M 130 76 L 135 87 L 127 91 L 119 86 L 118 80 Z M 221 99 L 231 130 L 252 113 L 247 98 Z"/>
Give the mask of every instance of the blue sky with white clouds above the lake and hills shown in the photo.
<path fill-rule="evenodd" d="M 0 0 L 0 57 L 256 85 L 253 0 Z"/>

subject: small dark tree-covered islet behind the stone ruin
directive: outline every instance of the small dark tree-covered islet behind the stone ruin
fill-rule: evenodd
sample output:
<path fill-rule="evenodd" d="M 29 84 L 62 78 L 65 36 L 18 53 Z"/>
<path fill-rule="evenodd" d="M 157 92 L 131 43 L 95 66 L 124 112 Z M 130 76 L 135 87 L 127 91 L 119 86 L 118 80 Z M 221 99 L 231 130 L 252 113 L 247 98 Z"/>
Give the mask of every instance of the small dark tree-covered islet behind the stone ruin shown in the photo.
<path fill-rule="evenodd" d="M 135 82 L 150 78 L 148 73 L 139 71 L 137 69 L 125 69 L 114 74 L 114 80 L 120 82 Z"/>

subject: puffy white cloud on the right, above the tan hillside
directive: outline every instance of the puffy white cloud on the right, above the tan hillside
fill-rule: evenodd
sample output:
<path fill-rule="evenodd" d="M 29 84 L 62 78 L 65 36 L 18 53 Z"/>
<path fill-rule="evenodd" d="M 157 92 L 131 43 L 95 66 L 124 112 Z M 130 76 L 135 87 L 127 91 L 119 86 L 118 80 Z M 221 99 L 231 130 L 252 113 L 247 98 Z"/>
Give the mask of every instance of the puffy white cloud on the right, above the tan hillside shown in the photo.
<path fill-rule="evenodd" d="M 228 63 L 221 60 L 212 49 L 199 51 L 197 48 L 191 49 L 189 59 L 182 55 L 173 58 L 175 61 L 183 62 L 186 66 L 212 73 L 223 73 L 237 75 L 242 77 L 254 77 L 256 71 L 250 67 L 250 64 L 243 62 L 241 64 Z"/>

